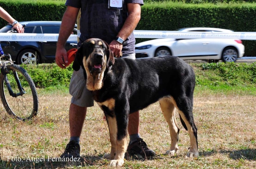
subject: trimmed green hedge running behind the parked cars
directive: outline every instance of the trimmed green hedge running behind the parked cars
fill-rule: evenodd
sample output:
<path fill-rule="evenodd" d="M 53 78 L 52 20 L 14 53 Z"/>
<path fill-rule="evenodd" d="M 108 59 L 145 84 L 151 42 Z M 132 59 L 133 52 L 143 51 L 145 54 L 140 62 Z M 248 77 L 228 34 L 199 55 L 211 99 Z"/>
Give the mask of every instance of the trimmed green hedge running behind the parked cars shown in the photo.
<path fill-rule="evenodd" d="M 18 21 L 57 20 L 60 21 L 66 7 L 64 2 L 0 0 L 0 6 L 6 9 Z M 142 6 L 141 20 L 137 30 L 173 31 L 185 27 L 214 27 L 233 31 L 256 32 L 256 4 L 254 3 L 205 3 L 187 4 L 183 2 L 150 2 Z M 6 21 L 0 20 L 0 26 Z M 137 39 L 137 42 L 148 39 Z M 256 41 L 244 40 L 246 56 L 256 56 Z"/>

